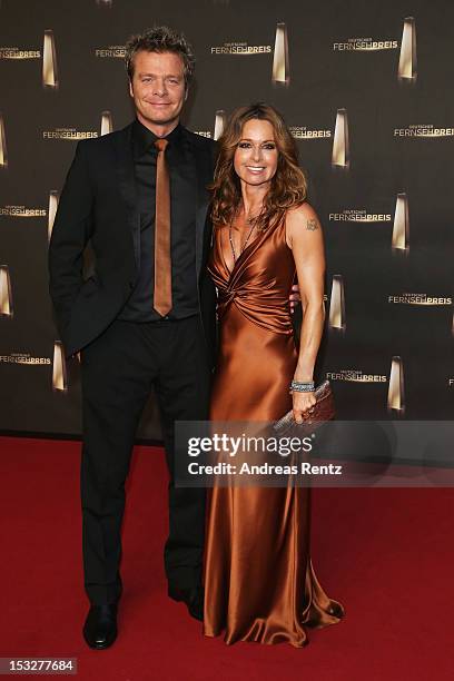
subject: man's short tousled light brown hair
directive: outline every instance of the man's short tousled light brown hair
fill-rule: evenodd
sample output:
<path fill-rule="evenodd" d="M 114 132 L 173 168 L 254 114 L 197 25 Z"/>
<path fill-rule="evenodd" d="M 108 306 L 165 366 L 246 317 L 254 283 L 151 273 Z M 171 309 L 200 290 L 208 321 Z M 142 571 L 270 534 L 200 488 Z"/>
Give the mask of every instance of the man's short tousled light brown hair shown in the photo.
<path fill-rule="evenodd" d="M 147 29 L 144 33 L 131 36 L 126 43 L 125 66 L 128 72 L 129 80 L 134 76 L 134 59 L 137 52 L 172 52 L 178 55 L 182 60 L 185 73 L 185 83 L 188 87 L 194 75 L 196 59 L 193 53 L 193 48 L 186 40 L 182 33 L 174 31 L 167 26 L 156 26 Z"/>

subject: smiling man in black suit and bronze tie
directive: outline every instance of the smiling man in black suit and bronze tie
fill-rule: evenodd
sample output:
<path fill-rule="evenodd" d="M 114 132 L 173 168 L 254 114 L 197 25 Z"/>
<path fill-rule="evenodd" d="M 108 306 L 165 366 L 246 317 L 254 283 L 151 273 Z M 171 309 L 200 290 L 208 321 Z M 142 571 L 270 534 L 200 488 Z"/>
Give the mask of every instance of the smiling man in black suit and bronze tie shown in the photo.
<path fill-rule="evenodd" d="M 168 593 L 203 618 L 205 491 L 174 484 L 174 423 L 208 417 L 215 289 L 206 272 L 206 186 L 216 145 L 179 122 L 194 70 L 181 36 L 154 28 L 130 39 L 126 65 L 136 120 L 78 144 L 49 250 L 60 336 L 67 355 L 81 357 L 82 541 L 91 604 L 83 634 L 96 649 L 117 635 L 125 481 L 151 386 L 170 472 Z M 85 279 L 89 240 L 96 265 Z"/>

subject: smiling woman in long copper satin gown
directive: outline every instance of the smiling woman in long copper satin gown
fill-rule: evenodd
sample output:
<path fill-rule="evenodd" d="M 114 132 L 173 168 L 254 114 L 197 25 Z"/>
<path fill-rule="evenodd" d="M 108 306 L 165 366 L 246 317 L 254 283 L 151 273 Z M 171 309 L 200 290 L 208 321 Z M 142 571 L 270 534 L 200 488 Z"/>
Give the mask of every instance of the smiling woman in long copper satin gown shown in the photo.
<path fill-rule="evenodd" d="M 324 256 L 295 142 L 266 105 L 237 109 L 220 139 L 213 185 L 219 355 L 211 421 L 297 421 L 314 393 L 323 330 Z M 257 217 L 258 216 L 258 217 Z M 249 220 L 247 219 L 249 217 Z M 295 345 L 288 296 L 298 276 L 304 322 Z M 308 642 L 305 626 L 337 623 L 343 606 L 315 575 L 308 487 L 215 486 L 209 494 L 204 633 L 225 642 Z"/>

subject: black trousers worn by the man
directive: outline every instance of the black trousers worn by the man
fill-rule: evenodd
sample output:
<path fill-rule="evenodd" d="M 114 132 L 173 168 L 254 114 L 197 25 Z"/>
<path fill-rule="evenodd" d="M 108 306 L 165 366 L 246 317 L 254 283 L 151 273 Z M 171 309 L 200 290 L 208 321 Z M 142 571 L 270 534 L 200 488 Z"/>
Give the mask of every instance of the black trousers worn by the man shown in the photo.
<path fill-rule="evenodd" d="M 125 482 L 152 386 L 170 474 L 166 574 L 176 588 L 200 583 L 205 490 L 175 486 L 174 424 L 208 418 L 210 376 L 199 316 L 145 324 L 115 320 L 82 351 L 82 543 L 92 604 L 112 603 L 121 595 Z"/>

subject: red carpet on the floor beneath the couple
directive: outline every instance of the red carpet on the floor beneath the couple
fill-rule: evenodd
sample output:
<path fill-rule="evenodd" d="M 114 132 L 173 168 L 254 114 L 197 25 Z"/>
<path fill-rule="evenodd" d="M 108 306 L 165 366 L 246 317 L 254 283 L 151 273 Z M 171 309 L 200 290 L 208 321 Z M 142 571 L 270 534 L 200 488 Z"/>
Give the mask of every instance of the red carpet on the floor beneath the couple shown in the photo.
<path fill-rule="evenodd" d="M 454 490 L 314 490 L 314 566 L 346 619 L 309 630 L 302 650 L 227 647 L 166 596 L 165 461 L 137 447 L 120 634 L 111 649 L 90 651 L 81 638 L 80 444 L 1 437 L 0 448 L 0 657 L 78 658 L 81 681 L 452 679 Z"/>

